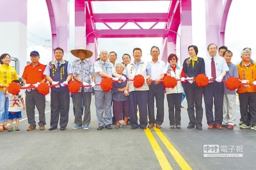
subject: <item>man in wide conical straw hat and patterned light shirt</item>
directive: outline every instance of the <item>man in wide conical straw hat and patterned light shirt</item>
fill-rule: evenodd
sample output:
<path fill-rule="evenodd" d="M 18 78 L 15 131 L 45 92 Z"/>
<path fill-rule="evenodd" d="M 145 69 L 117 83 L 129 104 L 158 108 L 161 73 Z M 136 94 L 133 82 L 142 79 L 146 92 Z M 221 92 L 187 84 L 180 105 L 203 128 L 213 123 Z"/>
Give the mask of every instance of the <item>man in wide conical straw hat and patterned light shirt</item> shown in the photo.
<path fill-rule="evenodd" d="M 77 59 L 72 63 L 72 73 L 73 79 L 80 82 L 84 86 L 92 85 L 95 86 L 95 75 L 93 70 L 93 65 L 87 58 L 92 57 L 93 52 L 86 50 L 83 47 L 80 49 L 75 49 L 70 51 Z M 92 77 L 92 80 L 91 78 Z M 76 107 L 75 112 L 75 123 L 73 129 L 83 128 L 85 130 L 89 129 L 89 124 L 91 122 L 91 100 L 92 100 L 92 88 L 79 88 L 78 93 L 74 93 L 74 103 Z M 84 105 L 84 119 L 82 121 L 82 102 Z"/>

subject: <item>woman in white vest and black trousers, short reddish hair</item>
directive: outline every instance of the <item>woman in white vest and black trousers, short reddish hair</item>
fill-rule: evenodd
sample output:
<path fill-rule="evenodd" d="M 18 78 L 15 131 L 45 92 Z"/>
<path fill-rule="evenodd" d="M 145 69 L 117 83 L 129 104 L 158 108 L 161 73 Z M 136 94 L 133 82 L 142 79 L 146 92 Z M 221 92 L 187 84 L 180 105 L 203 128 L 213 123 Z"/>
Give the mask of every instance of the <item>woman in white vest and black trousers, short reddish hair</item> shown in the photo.
<path fill-rule="evenodd" d="M 170 54 L 168 56 L 168 63 L 170 65 L 167 66 L 167 75 L 174 77 L 175 79 L 180 79 L 180 74 L 182 69 L 180 66 L 177 66 L 178 58 L 176 54 Z M 169 108 L 169 120 L 170 120 L 170 128 L 181 128 L 180 126 L 180 105 L 181 98 L 184 89 L 182 88 L 182 84 L 180 81 L 177 81 L 177 86 L 174 88 L 166 88 L 166 98 L 168 102 Z M 175 109 L 175 111 L 174 111 Z"/>

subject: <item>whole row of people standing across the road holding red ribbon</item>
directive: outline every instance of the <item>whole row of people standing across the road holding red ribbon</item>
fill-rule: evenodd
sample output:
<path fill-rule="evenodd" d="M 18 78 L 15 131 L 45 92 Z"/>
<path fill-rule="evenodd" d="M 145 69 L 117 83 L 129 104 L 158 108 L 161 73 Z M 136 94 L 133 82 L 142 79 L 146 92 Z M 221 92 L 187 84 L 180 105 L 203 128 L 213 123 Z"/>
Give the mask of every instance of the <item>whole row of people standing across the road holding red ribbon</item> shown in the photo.
<path fill-rule="evenodd" d="M 122 120 L 124 120 L 122 128 L 127 128 L 128 123 L 131 124 L 131 129 L 161 128 L 164 121 L 164 93 L 166 93 L 168 102 L 170 128 L 181 128 L 180 105 L 182 94 L 185 93 L 189 117 L 187 128 L 196 127 L 202 130 L 202 98 L 204 96 L 208 128 L 233 129 L 236 121 L 236 92 L 239 94 L 240 102 L 240 128 L 249 128 L 251 123 L 251 128 L 256 130 L 256 64 L 251 59 L 251 49 L 243 49 L 242 61 L 237 65 L 231 63 L 232 52 L 227 47 L 221 46 L 218 49 L 216 44 L 211 43 L 207 50 L 209 56 L 200 58 L 197 56 L 198 48 L 190 45 L 188 47 L 189 58 L 184 60 L 182 67 L 177 65 L 176 54 L 168 56 L 167 64 L 159 59 L 160 50 L 156 46 L 150 49 L 152 59 L 149 62 L 141 59 L 140 48 L 134 48 L 132 51 L 134 61 L 131 61 L 129 54 L 124 54 L 123 62 L 115 63 L 116 52 L 108 53 L 102 50 L 94 65 L 88 61 L 88 58 L 93 56 L 93 52 L 84 48 L 70 51 L 79 58 L 70 63 L 63 59 L 63 49 L 58 47 L 54 49 L 54 61 L 49 61 L 46 66 L 39 63 L 40 55 L 34 50 L 30 53 L 31 64 L 24 68 L 22 75 L 24 86 L 28 88 L 26 89 L 26 105 L 22 93 L 10 94 L 8 88 L 4 88 L 8 87 L 10 82 L 19 84 L 19 81 L 16 81 L 18 77 L 15 69 L 9 65 L 10 55 L 3 54 L 0 66 L 0 86 L 2 87 L 0 88 L 0 132 L 12 131 L 14 119 L 16 119 L 15 130 L 20 130 L 19 118 L 21 118 L 22 109 L 25 108 L 29 123 L 27 130 L 35 130 L 35 107 L 39 113 L 39 130 L 45 130 L 45 95 L 40 94 L 36 89 L 42 82 L 49 82 L 52 85 L 49 130 L 58 128 L 59 121 L 60 130 L 65 130 L 70 103 L 67 85 L 72 79 L 83 85 L 78 93 L 72 94 L 74 108 L 76 108 L 74 109 L 73 129 L 89 129 L 90 105 L 94 90 L 95 109 L 99 123 L 97 130 L 112 129 L 112 123 L 118 129 Z M 219 54 L 217 54 L 218 50 Z M 207 86 L 197 86 L 194 80 L 199 74 L 205 74 L 208 77 Z M 131 81 L 135 75 L 144 77 L 145 82 L 140 88 L 135 87 Z M 174 88 L 164 87 L 165 76 L 175 77 L 177 85 Z M 229 77 L 237 77 L 241 82 L 237 91 L 226 88 L 225 81 Z M 102 79 L 114 81 L 111 91 L 103 91 L 101 86 L 95 86 L 95 84 L 100 84 Z M 156 114 L 154 112 L 155 100 Z M 13 101 L 16 103 L 13 104 Z M 9 105 L 11 103 L 12 105 Z M 213 104 L 214 111 L 212 110 Z M 10 120 L 9 127 L 7 126 L 8 119 Z"/>

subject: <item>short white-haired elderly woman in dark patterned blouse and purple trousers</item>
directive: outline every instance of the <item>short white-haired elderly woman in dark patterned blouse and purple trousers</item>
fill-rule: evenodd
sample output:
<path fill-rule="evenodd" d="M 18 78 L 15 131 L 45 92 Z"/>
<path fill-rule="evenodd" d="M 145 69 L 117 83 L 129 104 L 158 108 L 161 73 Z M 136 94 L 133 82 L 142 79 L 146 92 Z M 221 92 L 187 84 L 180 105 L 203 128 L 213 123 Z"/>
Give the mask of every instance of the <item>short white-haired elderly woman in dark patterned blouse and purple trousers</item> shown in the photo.
<path fill-rule="evenodd" d="M 122 63 L 116 64 L 116 73 L 119 75 L 123 75 L 125 78 L 127 76 L 123 74 L 124 65 Z M 130 107 L 129 107 L 129 98 L 128 98 L 128 88 L 126 87 L 126 81 L 115 82 L 113 84 L 112 89 L 112 100 L 113 100 L 113 109 L 114 109 L 114 116 L 116 118 L 116 127 L 120 128 L 120 120 L 123 120 L 123 111 L 124 111 L 124 123 L 123 128 L 126 128 L 127 121 L 129 118 Z"/>

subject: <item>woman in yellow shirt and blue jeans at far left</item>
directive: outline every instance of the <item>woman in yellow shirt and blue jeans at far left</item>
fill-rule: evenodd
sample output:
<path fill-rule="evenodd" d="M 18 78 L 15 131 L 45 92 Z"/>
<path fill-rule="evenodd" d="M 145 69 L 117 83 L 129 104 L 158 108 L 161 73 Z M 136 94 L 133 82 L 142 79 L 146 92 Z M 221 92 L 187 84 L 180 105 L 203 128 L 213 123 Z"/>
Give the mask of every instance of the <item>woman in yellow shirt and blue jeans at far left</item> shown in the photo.
<path fill-rule="evenodd" d="M 0 57 L 0 132 L 8 130 L 8 97 L 4 95 L 4 88 L 1 86 L 9 86 L 13 80 L 18 80 L 18 75 L 13 66 L 10 66 L 11 57 L 9 54 L 2 54 Z"/>

